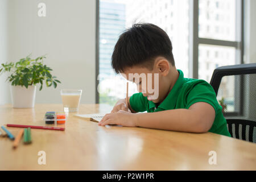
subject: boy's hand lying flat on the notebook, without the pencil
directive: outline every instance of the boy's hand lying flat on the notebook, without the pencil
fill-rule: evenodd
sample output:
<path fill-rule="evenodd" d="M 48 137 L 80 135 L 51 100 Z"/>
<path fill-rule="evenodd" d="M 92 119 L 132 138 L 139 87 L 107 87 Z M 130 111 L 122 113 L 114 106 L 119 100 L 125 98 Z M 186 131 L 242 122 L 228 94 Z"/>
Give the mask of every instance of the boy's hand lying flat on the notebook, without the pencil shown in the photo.
<path fill-rule="evenodd" d="M 130 113 L 129 111 L 119 110 L 117 113 L 106 114 L 104 118 L 98 123 L 99 126 L 105 126 L 109 124 L 116 124 L 122 126 L 136 126 L 137 115 Z"/>

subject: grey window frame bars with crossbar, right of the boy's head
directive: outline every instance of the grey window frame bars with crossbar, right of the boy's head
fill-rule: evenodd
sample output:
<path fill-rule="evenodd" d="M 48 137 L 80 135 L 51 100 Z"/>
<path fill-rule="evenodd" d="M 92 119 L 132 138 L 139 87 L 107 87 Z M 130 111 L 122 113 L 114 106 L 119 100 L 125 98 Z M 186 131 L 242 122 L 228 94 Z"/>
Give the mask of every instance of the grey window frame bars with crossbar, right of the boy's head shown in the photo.
<path fill-rule="evenodd" d="M 243 64 L 244 0 L 236 0 L 236 41 L 199 37 L 199 0 L 189 0 L 189 77 L 199 78 L 199 45 L 236 48 L 236 64 Z"/>

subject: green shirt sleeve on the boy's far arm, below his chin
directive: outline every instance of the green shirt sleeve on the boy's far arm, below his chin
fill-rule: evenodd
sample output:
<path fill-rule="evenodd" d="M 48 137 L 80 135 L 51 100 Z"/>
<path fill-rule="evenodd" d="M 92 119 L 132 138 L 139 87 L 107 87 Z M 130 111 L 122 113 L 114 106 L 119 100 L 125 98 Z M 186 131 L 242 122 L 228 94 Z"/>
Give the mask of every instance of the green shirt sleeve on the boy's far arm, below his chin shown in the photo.
<path fill-rule="evenodd" d="M 135 93 L 130 97 L 130 106 L 136 112 L 144 112 L 147 110 L 147 98 L 142 93 Z"/>

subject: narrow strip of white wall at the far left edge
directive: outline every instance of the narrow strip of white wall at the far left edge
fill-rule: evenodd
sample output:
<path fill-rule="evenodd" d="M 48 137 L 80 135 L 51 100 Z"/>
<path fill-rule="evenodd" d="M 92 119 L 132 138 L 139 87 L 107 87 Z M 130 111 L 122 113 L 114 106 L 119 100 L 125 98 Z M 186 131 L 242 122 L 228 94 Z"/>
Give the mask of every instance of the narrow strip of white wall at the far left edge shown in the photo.
<path fill-rule="evenodd" d="M 0 65 L 7 60 L 7 1 L 0 0 Z M 10 99 L 6 78 L 7 75 L 0 75 L 0 105 L 8 103 Z"/>

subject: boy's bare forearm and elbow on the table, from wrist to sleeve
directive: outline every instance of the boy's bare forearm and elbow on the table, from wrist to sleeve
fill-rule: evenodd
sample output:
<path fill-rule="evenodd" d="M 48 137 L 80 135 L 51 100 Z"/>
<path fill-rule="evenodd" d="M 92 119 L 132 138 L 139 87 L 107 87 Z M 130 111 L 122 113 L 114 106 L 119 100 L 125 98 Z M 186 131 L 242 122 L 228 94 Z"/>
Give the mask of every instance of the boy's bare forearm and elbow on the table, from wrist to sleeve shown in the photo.
<path fill-rule="evenodd" d="M 215 110 L 206 102 L 197 102 L 189 109 L 173 109 L 137 115 L 136 126 L 204 133 L 212 127 Z"/>

